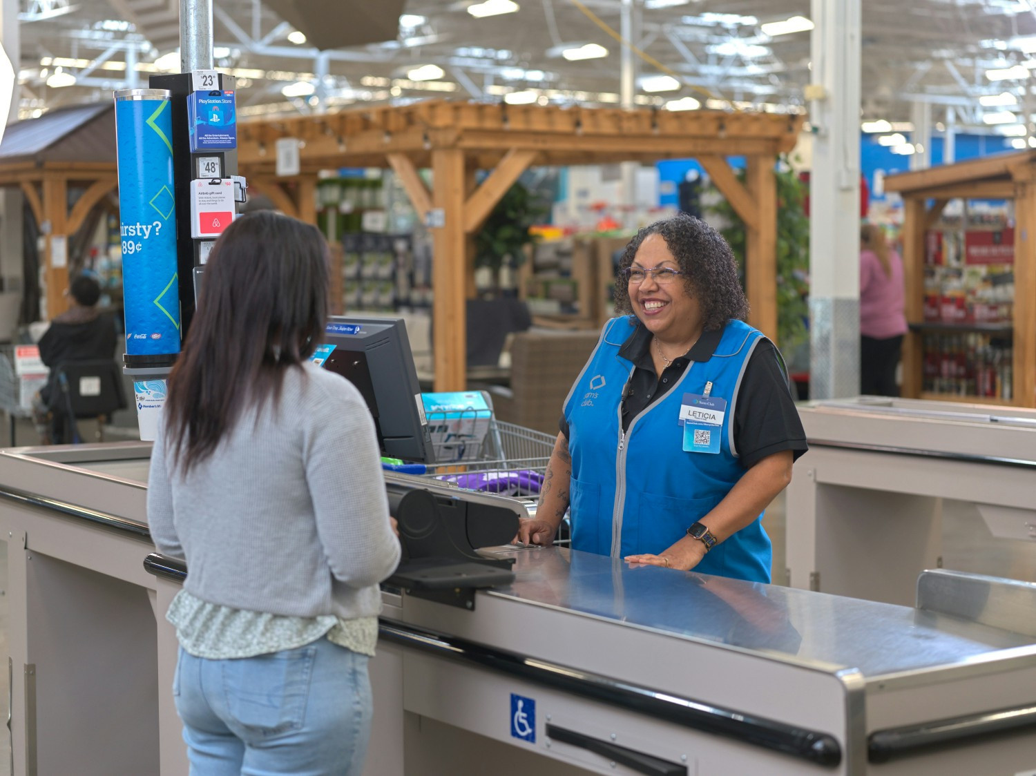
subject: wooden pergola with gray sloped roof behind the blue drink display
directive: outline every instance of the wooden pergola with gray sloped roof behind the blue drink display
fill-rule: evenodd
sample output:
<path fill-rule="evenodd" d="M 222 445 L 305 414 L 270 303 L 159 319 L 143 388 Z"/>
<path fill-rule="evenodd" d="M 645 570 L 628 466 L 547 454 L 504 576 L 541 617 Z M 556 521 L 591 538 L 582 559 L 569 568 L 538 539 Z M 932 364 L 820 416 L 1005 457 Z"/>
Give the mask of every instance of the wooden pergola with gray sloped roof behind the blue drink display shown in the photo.
<path fill-rule="evenodd" d="M 70 304 L 64 292 L 73 236 L 118 189 L 115 111 L 109 106 L 81 106 L 19 121 L 7 128 L 3 150 L 0 188 L 21 190 L 46 237 L 40 264 L 47 314 L 53 318 Z M 55 240 L 62 238 L 63 254 L 55 252 Z"/>

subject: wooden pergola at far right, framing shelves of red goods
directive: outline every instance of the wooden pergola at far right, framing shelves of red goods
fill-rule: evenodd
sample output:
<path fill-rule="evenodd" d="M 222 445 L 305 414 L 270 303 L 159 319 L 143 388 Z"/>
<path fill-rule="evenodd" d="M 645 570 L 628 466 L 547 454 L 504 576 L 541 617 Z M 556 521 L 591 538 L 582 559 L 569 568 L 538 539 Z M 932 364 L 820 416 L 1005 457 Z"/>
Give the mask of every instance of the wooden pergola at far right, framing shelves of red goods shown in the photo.
<path fill-rule="evenodd" d="M 903 275 L 906 321 L 924 324 L 925 234 L 951 199 L 1014 201 L 1014 365 L 1009 403 L 1036 406 L 1036 150 L 890 175 L 885 190 L 903 198 Z M 903 343 L 903 395 L 921 396 L 923 332 Z M 960 398 L 957 397 L 959 401 Z M 966 399 L 968 401 L 969 399 Z"/>

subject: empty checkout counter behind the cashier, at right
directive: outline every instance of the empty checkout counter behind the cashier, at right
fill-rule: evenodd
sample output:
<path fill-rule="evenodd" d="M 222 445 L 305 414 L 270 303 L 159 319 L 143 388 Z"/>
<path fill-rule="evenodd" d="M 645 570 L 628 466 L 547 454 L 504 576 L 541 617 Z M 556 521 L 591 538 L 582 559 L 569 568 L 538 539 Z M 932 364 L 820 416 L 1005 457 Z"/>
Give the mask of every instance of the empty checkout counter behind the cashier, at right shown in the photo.
<path fill-rule="evenodd" d="M 911 605 L 942 566 L 943 499 L 1036 542 L 1036 410 L 860 397 L 807 402 L 787 489 L 790 584 Z"/>

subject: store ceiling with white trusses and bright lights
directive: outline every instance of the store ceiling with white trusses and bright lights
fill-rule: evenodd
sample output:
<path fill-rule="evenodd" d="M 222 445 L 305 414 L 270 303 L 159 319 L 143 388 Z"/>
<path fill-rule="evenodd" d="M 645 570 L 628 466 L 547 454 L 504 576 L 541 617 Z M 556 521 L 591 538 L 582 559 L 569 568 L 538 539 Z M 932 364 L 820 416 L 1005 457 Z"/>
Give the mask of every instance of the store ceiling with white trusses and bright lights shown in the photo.
<path fill-rule="evenodd" d="M 146 85 L 155 59 L 169 53 L 169 27 L 126 18 L 128 0 L 22 0 L 22 115 L 94 100 L 112 89 Z M 165 0 L 175 7 L 176 0 Z M 366 2 L 366 0 L 354 0 Z M 508 0 L 490 0 L 490 3 Z M 477 19 L 471 0 L 407 0 L 400 37 L 385 44 L 324 53 L 288 39 L 290 26 L 261 0 L 215 0 L 218 66 L 241 77 L 242 113 L 263 115 L 338 110 L 355 102 L 456 96 L 615 104 L 620 45 L 573 0 L 517 0 L 519 10 Z M 765 110 L 803 105 L 809 80 L 808 32 L 776 37 L 760 25 L 809 16 L 809 0 L 634 0 L 642 8 L 638 47 L 684 84 L 677 90 L 637 91 L 639 105 L 693 96 L 751 104 Z M 677 2 L 679 4 L 667 4 Z M 979 95 L 1020 95 L 1031 73 L 990 81 L 992 68 L 1030 61 L 1036 50 L 1036 0 L 861 0 L 863 116 L 909 121 L 912 105 L 936 106 L 933 121 L 983 125 Z M 583 7 L 618 31 L 618 0 L 583 0 Z M 153 3 L 152 3 L 153 5 Z M 347 3 L 336 24 L 348 25 Z M 31 21 L 35 19 L 36 21 Z M 134 21 L 133 19 L 130 20 Z M 153 21 L 153 20 L 152 20 Z M 150 35 L 155 46 L 147 39 Z M 297 35 L 295 36 L 297 37 Z M 1018 38 L 1023 39 L 1018 39 Z M 569 61 L 566 48 L 596 44 L 608 55 Z M 1030 45 L 1031 44 L 1031 45 Z M 127 59 L 128 58 L 128 59 Z M 178 70 L 176 57 L 172 70 Z M 138 80 L 127 80 L 136 60 Z M 1036 61 L 1031 62 L 1036 66 Z M 434 68 L 413 74 L 423 65 Z M 57 68 L 62 77 L 55 79 Z M 429 71 L 430 70 L 430 71 Z M 660 70 L 640 62 L 643 76 Z M 1036 70 L 1032 70 L 1036 71 Z M 62 81 L 75 83 L 58 86 Z M 430 80 L 415 80 L 432 76 Z M 50 86 L 47 85 L 50 81 Z M 284 89 L 288 87 L 286 97 Z M 530 91 L 531 90 L 531 91 Z M 307 93 L 312 92 L 312 93 Z M 511 97 L 514 99 L 515 97 Z M 521 97 L 519 97 L 521 98 Z M 721 104 L 709 104 L 719 107 Z M 780 108 L 778 108 L 780 107 Z M 1036 104 L 1026 106 L 1036 110 Z M 1019 107 L 992 110 L 1016 110 Z"/>

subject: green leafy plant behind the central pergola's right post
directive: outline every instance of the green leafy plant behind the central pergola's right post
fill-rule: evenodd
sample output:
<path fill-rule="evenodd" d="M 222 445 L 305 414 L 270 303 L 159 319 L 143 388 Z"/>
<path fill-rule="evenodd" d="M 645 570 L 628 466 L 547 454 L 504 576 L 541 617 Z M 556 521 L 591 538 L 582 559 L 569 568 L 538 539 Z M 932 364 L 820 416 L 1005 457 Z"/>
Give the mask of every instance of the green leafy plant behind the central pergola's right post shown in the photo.
<path fill-rule="evenodd" d="M 777 343 L 789 353 L 807 339 L 809 330 L 809 218 L 804 199 L 806 184 L 786 164 L 778 166 L 777 176 Z M 745 172 L 738 172 L 745 181 Z M 745 282 L 745 224 L 725 199 L 709 208 L 728 224 L 720 232 L 738 259 L 741 282 Z"/>

